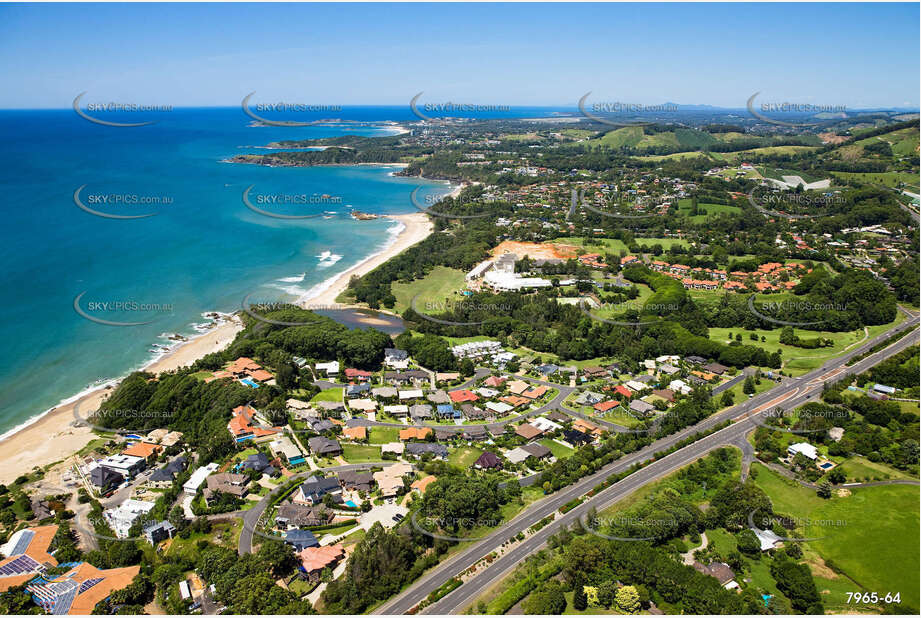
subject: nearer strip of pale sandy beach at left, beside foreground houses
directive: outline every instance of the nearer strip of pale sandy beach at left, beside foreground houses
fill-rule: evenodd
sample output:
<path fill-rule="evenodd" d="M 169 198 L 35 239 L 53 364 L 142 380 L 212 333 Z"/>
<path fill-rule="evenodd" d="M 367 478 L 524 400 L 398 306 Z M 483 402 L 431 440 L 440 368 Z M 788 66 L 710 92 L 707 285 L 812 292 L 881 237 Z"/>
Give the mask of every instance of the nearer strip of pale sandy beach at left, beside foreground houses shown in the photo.
<path fill-rule="evenodd" d="M 164 354 L 144 370 L 160 373 L 190 365 L 205 354 L 225 348 L 242 328 L 237 318 L 221 322 L 200 337 Z M 105 401 L 112 388 L 114 385 L 101 386 L 75 401 L 62 404 L 5 438 L 0 449 L 0 483 L 11 483 L 35 466 L 61 461 L 86 446 L 95 436 L 89 427 L 74 426 L 74 407 L 79 406 L 80 415 L 85 416 Z"/>

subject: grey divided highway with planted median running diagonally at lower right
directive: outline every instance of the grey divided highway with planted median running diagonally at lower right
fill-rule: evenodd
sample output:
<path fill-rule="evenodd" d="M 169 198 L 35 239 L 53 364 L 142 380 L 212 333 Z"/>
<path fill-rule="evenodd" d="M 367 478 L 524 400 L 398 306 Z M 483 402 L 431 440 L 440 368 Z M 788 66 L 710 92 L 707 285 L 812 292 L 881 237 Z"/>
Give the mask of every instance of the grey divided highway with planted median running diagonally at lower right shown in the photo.
<path fill-rule="evenodd" d="M 422 613 L 426 614 L 462 612 L 469 607 L 484 590 L 499 581 L 501 577 L 527 556 L 540 549 L 550 536 L 559 531 L 561 526 L 568 526 L 576 518 L 584 517 L 589 508 L 594 507 L 598 511 L 601 511 L 618 500 L 628 496 L 643 485 L 667 476 L 671 472 L 706 455 L 715 448 L 726 445 L 741 446 L 741 443 L 745 441 L 746 435 L 756 427 L 752 418 L 761 417 L 764 412 L 774 410 L 778 407 L 785 410 L 795 408 L 807 400 L 821 395 L 822 387 L 826 381 L 838 379 L 848 374 L 860 373 L 906 347 L 916 345 L 918 337 L 917 333 L 913 333 L 903 337 L 884 350 L 876 352 L 855 363 L 852 367 L 846 366 L 846 362 L 851 358 L 865 353 L 893 334 L 909 328 L 914 329 L 917 325 L 918 317 L 909 314 L 909 318 L 901 324 L 874 337 L 855 350 L 828 361 L 819 369 L 797 378 L 787 379 L 764 393 L 756 395 L 723 412 L 714 414 L 694 426 L 661 438 L 636 453 L 622 457 L 618 461 L 608 464 L 595 474 L 585 477 L 573 485 L 564 487 L 547 498 L 531 505 L 512 521 L 501 526 L 488 537 L 471 542 L 468 549 L 459 552 L 431 569 L 399 595 L 381 605 L 374 613 L 407 613 L 423 601 L 431 592 L 437 590 L 452 577 L 501 547 L 511 536 L 517 534 L 519 531 L 527 530 L 544 517 L 555 513 L 561 506 L 570 500 L 583 496 L 611 474 L 625 471 L 635 463 L 647 461 L 651 459 L 654 453 L 668 449 L 694 433 L 710 430 L 727 419 L 736 421 L 718 432 L 706 436 L 693 444 L 685 446 L 649 464 L 645 468 L 634 472 L 629 477 L 599 492 L 580 506 L 558 517 L 553 523 L 545 526 L 524 541 L 521 541 L 512 549 L 506 551 L 505 554 L 494 560 L 488 567 L 478 571 L 474 576 L 467 579 L 459 588 L 422 611 Z M 749 456 L 746 451 L 743 451 L 743 453 Z"/>

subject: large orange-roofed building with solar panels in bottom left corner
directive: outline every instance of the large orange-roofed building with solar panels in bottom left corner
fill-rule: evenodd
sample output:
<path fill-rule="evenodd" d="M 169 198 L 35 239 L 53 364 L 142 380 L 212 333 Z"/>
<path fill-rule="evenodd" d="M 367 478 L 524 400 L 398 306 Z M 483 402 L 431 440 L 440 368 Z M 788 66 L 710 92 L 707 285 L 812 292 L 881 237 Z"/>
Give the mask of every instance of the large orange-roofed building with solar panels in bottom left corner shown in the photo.
<path fill-rule="evenodd" d="M 140 566 L 120 569 L 97 569 L 81 562 L 62 575 L 45 579 L 42 575 L 57 560 L 48 553 L 57 526 L 24 528 L 10 537 L 0 551 L 7 557 L 0 561 L 0 592 L 28 583 L 27 589 L 49 614 L 89 615 L 96 604 L 134 581 Z"/>

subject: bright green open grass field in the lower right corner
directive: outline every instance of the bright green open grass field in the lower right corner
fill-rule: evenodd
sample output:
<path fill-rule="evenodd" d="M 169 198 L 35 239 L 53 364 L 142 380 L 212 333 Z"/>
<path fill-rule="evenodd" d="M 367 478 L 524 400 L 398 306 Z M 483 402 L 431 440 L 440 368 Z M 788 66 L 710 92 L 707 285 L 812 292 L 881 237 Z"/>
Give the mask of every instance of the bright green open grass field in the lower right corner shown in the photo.
<path fill-rule="evenodd" d="M 778 513 L 801 518 L 803 534 L 818 540 L 803 543 L 805 557 L 823 592 L 826 609 L 849 608 L 847 591 L 901 593 L 902 602 L 918 608 L 918 497 L 911 485 L 862 487 L 850 495 L 819 498 L 802 487 L 754 464 L 755 483 Z M 821 537 L 821 538 L 819 538 Z M 833 562 L 841 571 L 827 567 Z"/>

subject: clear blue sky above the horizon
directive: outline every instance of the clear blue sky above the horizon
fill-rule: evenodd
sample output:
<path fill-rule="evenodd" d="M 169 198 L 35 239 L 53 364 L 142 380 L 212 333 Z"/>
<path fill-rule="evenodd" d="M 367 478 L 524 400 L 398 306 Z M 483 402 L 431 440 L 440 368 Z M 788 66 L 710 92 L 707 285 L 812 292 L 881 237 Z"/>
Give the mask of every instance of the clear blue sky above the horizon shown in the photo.
<path fill-rule="evenodd" d="M 0 108 L 918 106 L 919 5 L 0 5 Z"/>

